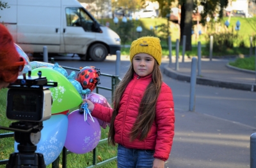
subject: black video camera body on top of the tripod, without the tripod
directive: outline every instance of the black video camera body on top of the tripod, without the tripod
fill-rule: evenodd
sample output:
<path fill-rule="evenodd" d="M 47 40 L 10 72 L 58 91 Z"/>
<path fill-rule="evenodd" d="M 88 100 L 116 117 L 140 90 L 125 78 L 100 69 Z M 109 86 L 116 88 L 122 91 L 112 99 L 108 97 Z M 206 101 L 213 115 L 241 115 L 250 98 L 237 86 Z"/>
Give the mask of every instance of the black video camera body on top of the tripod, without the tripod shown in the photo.
<path fill-rule="evenodd" d="M 9 85 L 7 93 L 6 117 L 9 120 L 42 122 L 51 117 L 52 97 L 50 87 L 56 82 L 47 82 L 46 77 L 19 76 Z"/>

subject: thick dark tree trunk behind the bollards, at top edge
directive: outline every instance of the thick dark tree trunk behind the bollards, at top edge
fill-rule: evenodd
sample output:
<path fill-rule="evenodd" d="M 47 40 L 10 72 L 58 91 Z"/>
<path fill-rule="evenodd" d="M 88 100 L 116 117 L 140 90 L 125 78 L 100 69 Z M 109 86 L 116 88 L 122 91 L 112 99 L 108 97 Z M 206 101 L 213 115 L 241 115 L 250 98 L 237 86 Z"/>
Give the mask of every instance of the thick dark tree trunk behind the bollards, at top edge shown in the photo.
<path fill-rule="evenodd" d="M 191 51 L 191 31 L 192 31 L 192 13 L 193 0 L 186 0 L 181 6 L 180 18 L 180 44 L 182 44 L 183 35 L 186 35 L 186 51 Z"/>

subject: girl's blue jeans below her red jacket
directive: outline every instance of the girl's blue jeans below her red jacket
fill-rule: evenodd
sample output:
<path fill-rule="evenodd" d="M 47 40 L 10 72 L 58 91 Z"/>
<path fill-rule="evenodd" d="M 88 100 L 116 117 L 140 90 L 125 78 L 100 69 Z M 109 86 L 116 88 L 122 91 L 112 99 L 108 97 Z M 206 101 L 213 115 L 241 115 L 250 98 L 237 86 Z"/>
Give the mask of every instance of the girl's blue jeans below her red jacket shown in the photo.
<path fill-rule="evenodd" d="M 146 168 L 153 167 L 155 150 L 134 150 L 118 144 L 117 167 L 118 168 Z"/>

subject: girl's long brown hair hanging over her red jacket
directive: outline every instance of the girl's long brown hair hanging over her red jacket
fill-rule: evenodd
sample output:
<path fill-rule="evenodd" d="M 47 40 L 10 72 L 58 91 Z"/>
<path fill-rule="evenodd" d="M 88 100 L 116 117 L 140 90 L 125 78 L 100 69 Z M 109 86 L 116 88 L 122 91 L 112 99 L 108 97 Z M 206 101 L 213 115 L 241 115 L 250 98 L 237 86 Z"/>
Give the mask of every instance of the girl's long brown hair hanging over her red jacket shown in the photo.
<path fill-rule="evenodd" d="M 127 73 L 118 86 L 116 87 L 114 93 L 113 101 L 113 115 L 110 122 L 110 128 L 108 132 L 108 143 L 115 145 L 115 127 L 114 122 L 116 115 L 118 115 L 118 109 L 124 90 L 127 87 L 128 83 L 132 80 L 134 74 L 133 65 L 129 67 Z M 149 83 L 148 87 L 145 90 L 143 98 L 140 102 L 139 114 L 136 118 L 131 130 L 131 141 L 134 141 L 137 137 L 142 141 L 147 137 L 147 134 L 155 120 L 156 116 L 156 102 L 157 97 L 161 91 L 162 85 L 162 74 L 157 64 L 156 60 L 154 63 L 154 68 L 152 71 L 152 81 Z"/>

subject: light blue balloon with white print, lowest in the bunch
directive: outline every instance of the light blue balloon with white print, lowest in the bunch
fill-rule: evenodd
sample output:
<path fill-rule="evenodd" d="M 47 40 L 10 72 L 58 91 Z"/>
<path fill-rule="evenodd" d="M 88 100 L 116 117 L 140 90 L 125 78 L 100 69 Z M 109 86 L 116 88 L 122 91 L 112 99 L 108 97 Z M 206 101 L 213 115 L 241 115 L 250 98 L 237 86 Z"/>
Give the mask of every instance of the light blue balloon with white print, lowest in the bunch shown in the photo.
<path fill-rule="evenodd" d="M 60 155 L 67 137 L 68 116 L 52 115 L 49 120 L 43 122 L 41 139 L 36 144 L 36 153 L 44 155 L 45 165 L 49 165 Z M 17 143 L 14 143 L 14 151 L 18 152 Z"/>

